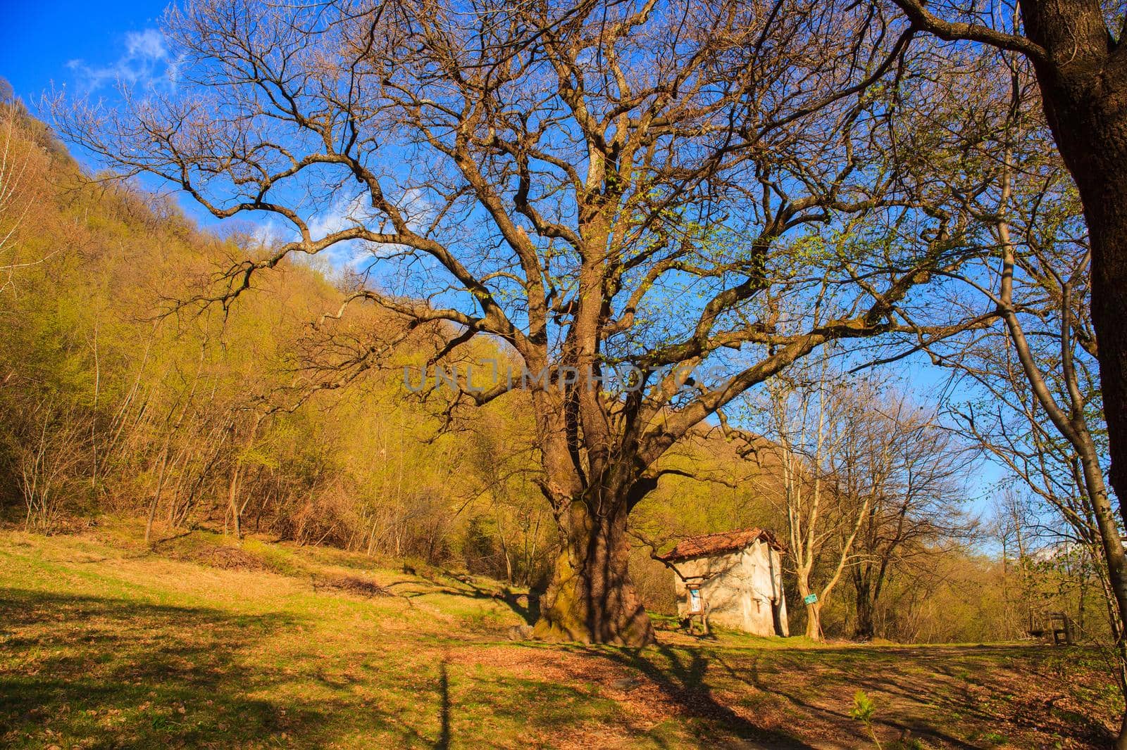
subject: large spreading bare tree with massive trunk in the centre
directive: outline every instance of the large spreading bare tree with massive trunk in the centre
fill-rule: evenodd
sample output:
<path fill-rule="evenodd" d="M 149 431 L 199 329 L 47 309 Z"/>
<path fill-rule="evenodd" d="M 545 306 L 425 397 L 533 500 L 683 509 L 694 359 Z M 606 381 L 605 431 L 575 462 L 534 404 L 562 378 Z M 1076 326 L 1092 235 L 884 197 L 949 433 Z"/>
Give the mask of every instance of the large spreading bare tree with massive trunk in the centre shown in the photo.
<path fill-rule="evenodd" d="M 884 145 L 911 124 L 872 83 L 913 61 L 872 8 L 212 0 L 168 21 L 177 93 L 56 101 L 60 130 L 218 217 L 286 227 L 201 302 L 358 243 L 353 304 L 445 323 L 436 360 L 507 348 L 561 534 L 543 637 L 653 640 L 627 519 L 694 425 L 828 341 L 957 323 L 893 313 L 961 262 L 964 217 L 915 211 Z M 454 405 L 508 390 L 455 385 Z"/>

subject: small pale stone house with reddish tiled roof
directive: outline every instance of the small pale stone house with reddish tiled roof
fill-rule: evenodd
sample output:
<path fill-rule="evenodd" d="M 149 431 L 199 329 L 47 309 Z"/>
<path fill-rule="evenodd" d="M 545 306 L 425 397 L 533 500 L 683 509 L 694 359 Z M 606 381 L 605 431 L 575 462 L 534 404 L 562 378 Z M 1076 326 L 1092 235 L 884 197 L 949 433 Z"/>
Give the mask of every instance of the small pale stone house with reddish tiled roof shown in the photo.
<path fill-rule="evenodd" d="M 789 635 L 782 590 L 786 547 L 762 528 L 682 539 L 658 559 L 676 573 L 677 615 L 707 616 L 755 635 Z"/>

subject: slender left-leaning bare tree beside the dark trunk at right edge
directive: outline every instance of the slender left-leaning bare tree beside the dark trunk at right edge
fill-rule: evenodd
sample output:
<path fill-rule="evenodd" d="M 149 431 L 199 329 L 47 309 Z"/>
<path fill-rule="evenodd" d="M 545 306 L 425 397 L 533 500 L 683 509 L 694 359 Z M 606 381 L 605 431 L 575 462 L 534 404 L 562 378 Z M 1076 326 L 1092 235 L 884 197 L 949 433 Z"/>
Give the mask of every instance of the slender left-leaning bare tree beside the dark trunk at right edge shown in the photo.
<path fill-rule="evenodd" d="M 950 274 L 961 285 L 951 302 L 985 305 L 999 324 L 944 341 L 922 337 L 917 346 L 980 394 L 953 408 L 962 431 L 1053 509 L 1062 543 L 1090 555 L 1107 593 L 1119 682 L 1127 690 L 1122 503 L 1117 514 L 1106 481 L 1112 402 L 1101 387 L 1113 370 L 1103 369 L 1097 307 L 1089 304 L 1097 288 L 1089 273 L 1095 236 L 1085 232 L 1085 213 L 1048 149 L 1049 134 L 1031 116 L 1038 91 L 1021 65 L 1009 63 L 1008 91 L 983 108 L 985 127 L 964 139 L 973 151 L 987 134 L 1003 144 L 1001 158 L 979 162 L 975 189 L 952 190 L 983 226 L 979 242 L 990 253 L 982 257 L 990 260 Z M 1127 747 L 1127 720 L 1117 742 Z"/>

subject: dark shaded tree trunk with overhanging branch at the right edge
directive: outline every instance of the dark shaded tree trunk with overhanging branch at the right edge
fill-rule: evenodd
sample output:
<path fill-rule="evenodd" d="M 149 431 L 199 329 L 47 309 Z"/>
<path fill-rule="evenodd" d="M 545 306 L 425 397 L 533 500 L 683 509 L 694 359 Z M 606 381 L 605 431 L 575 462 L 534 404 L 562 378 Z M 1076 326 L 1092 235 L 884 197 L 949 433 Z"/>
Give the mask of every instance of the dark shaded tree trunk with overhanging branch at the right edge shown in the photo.
<path fill-rule="evenodd" d="M 1040 90 L 1045 122 L 1079 188 L 1091 241 L 1091 321 L 1111 457 L 1110 481 L 1127 493 L 1127 33 L 1118 0 L 1021 0 L 999 8 L 894 0 L 914 28 L 941 39 L 1023 59 Z M 1001 66 L 1000 65 L 1000 66 Z M 1004 71 L 1004 68 L 1003 68 Z M 1049 416 L 1053 417 L 1053 412 Z M 1064 426 L 1064 423 L 1062 423 Z M 1065 426 L 1065 432 L 1075 428 Z M 1120 505 L 1120 519 L 1127 509 Z M 1101 524 L 1110 524 L 1101 519 Z M 1118 546 L 1118 542 L 1116 545 Z M 1113 554 L 1121 557 L 1121 551 Z M 1109 560 L 1109 562 L 1112 562 Z M 1115 564 L 1115 563 L 1112 563 Z M 1117 593 L 1120 604 L 1127 604 Z M 1122 611 L 1122 610 L 1120 610 Z M 1127 722 L 1118 748 L 1127 748 Z"/>

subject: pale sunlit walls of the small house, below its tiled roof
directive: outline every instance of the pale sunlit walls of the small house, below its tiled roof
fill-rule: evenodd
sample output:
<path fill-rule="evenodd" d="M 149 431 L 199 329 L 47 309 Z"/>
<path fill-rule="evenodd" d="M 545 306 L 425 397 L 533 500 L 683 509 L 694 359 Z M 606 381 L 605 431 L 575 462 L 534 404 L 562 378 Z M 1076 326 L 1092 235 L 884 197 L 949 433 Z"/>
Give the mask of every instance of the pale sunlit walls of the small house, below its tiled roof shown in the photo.
<path fill-rule="evenodd" d="M 675 563 L 677 615 L 690 613 L 689 587 L 700 584 L 709 622 L 756 635 L 789 635 L 779 552 L 766 542 L 753 542 L 737 552 Z"/>

